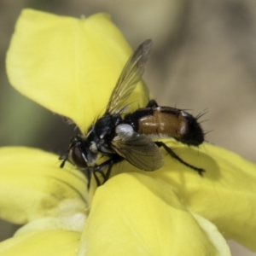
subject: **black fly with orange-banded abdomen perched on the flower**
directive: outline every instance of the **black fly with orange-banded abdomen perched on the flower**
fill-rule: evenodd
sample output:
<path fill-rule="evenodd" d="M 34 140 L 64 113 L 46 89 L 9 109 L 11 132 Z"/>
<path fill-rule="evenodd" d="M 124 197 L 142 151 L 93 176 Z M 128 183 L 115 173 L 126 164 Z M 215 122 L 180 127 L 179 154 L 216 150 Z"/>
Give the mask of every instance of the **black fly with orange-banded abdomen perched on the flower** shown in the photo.
<path fill-rule="evenodd" d="M 88 188 L 91 174 L 99 186 L 108 180 L 112 166 L 121 160 L 148 172 L 160 169 L 164 164 L 160 147 L 200 175 L 205 172 L 185 162 L 165 143 L 158 141 L 173 137 L 180 143 L 200 145 L 204 142 L 204 133 L 197 118 L 177 108 L 160 107 L 154 100 L 150 100 L 145 108 L 125 114 L 124 102 L 142 79 L 151 46 L 151 39 L 139 45 L 119 76 L 106 112 L 90 125 L 87 134 L 72 137 L 66 154 L 60 157 L 61 168 L 69 160 L 84 172 Z M 99 156 L 106 156 L 108 160 L 97 165 Z M 102 172 L 105 169 L 107 172 Z M 102 174 L 102 183 L 96 172 Z"/>

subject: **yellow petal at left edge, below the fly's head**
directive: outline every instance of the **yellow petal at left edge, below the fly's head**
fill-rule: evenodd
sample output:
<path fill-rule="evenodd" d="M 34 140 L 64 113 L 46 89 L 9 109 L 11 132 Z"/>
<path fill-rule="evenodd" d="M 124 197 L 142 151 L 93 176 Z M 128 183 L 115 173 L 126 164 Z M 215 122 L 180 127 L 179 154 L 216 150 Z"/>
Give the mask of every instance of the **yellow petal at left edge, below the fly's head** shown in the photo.
<path fill-rule="evenodd" d="M 86 210 L 85 178 L 55 154 L 35 148 L 0 148 L 0 217 L 24 224 L 44 216 Z M 84 208 L 84 209 L 83 209 Z M 66 210 L 68 211 L 68 210 Z"/>

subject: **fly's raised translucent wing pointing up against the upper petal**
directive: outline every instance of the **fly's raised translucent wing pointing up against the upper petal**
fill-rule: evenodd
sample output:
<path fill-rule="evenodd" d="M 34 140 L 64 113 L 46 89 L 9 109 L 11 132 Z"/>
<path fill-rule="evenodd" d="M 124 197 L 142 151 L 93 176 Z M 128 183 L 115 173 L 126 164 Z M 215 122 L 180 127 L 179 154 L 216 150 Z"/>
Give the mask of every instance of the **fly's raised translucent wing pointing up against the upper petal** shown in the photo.
<path fill-rule="evenodd" d="M 142 79 L 151 45 L 151 39 L 145 40 L 143 44 L 139 45 L 125 64 L 119 80 L 113 89 L 112 95 L 110 96 L 106 114 L 117 113 L 121 108 L 124 108 L 123 102 L 131 95 L 136 84 Z"/>

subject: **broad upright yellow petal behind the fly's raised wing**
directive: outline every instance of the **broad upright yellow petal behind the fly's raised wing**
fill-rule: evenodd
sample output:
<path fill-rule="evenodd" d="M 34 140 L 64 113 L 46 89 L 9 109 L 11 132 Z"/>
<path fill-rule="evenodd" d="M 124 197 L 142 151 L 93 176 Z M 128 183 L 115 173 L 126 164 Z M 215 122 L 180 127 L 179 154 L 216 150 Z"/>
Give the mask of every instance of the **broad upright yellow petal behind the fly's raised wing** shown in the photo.
<path fill-rule="evenodd" d="M 108 15 L 88 18 L 25 9 L 7 54 L 10 83 L 25 96 L 67 116 L 81 131 L 107 107 L 131 48 Z M 143 84 L 132 96 L 145 106 Z"/>

